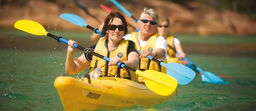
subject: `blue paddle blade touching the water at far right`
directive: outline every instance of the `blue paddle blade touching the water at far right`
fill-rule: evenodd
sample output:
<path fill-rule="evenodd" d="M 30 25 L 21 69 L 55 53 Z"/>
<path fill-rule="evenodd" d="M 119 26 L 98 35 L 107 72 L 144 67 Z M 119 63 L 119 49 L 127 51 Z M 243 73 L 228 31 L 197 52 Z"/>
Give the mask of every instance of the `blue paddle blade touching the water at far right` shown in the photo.
<path fill-rule="evenodd" d="M 221 77 L 211 72 L 201 72 L 202 81 L 209 82 L 211 84 L 229 84 L 228 81 L 221 79 Z"/>

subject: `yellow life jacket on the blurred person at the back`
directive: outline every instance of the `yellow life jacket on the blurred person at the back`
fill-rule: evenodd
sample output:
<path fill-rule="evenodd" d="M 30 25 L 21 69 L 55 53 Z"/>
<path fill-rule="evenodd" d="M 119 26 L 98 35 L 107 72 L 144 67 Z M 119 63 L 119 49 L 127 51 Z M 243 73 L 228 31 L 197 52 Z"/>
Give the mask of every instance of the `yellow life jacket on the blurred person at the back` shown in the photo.
<path fill-rule="evenodd" d="M 166 38 L 167 54 L 170 57 L 175 57 L 176 56 L 176 49 L 175 49 L 175 46 L 174 46 L 174 38 L 175 38 L 174 36 L 169 36 L 169 37 Z"/>

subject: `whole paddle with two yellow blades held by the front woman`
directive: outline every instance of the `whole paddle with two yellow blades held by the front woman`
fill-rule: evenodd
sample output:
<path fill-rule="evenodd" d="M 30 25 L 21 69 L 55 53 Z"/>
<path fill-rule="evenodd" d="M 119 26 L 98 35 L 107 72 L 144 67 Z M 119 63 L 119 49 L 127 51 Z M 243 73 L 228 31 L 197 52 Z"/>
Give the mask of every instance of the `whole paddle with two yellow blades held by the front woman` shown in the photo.
<path fill-rule="evenodd" d="M 30 34 L 41 35 L 41 36 L 45 35 L 50 38 L 56 39 L 58 42 L 68 44 L 68 41 L 66 39 L 63 39 L 62 37 L 54 36 L 54 35 L 46 32 L 45 28 L 41 24 L 39 24 L 35 21 L 19 20 L 14 24 L 14 27 L 19 30 L 28 32 Z M 83 48 L 77 44 L 73 44 L 73 46 L 82 51 L 87 50 L 86 48 Z M 108 57 L 104 57 L 103 55 L 97 54 L 96 52 L 93 52 L 93 51 L 89 51 L 89 54 L 100 57 L 108 62 L 110 60 Z M 173 93 L 173 91 L 176 89 L 176 87 L 178 85 L 176 79 L 174 79 L 173 77 L 168 76 L 164 73 L 158 72 L 158 71 L 146 70 L 146 71 L 142 72 L 142 71 L 130 68 L 122 63 L 117 63 L 116 65 L 120 66 L 121 68 L 131 70 L 131 71 L 135 72 L 137 75 L 143 77 L 145 80 L 146 86 L 150 90 L 152 90 L 154 93 L 157 93 L 162 96 L 167 96 L 167 95 L 170 95 L 171 93 Z"/>

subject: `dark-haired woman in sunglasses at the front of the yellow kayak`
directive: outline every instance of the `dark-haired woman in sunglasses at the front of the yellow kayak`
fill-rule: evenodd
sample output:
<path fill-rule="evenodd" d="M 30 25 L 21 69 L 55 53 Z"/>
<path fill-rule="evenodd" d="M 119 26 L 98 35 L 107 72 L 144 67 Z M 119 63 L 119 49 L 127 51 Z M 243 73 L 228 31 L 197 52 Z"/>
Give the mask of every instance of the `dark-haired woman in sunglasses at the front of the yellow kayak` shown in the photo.
<path fill-rule="evenodd" d="M 139 63 L 139 54 L 135 49 L 135 43 L 130 40 L 122 39 L 128 32 L 127 27 L 126 20 L 122 14 L 111 12 L 106 17 L 104 26 L 102 27 L 102 35 L 104 37 L 100 38 L 96 45 L 85 50 L 85 52 L 75 60 L 73 60 L 75 51 L 73 44 L 78 43 L 69 40 L 67 60 L 65 64 L 66 73 L 76 74 L 90 66 L 89 72 L 94 69 L 100 69 L 102 72 L 101 75 L 103 76 L 122 77 L 137 81 L 138 76 L 135 73 L 121 69 L 115 65 L 119 62 L 136 69 Z M 94 51 L 111 58 L 110 62 L 106 62 L 99 57 L 88 54 L 89 51 Z"/>

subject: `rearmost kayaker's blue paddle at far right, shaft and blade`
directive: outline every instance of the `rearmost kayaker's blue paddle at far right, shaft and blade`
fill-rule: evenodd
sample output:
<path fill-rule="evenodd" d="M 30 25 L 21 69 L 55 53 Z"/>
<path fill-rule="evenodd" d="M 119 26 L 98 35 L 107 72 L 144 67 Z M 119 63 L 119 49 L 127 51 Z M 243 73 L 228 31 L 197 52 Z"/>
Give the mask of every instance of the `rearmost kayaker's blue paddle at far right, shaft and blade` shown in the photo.
<path fill-rule="evenodd" d="M 170 45 L 167 45 L 169 48 L 173 49 Z M 173 49 L 174 50 L 174 49 Z M 175 52 L 180 55 L 180 53 L 178 53 L 176 50 Z M 201 73 L 201 78 L 202 78 L 202 81 L 204 82 L 208 82 L 208 83 L 211 83 L 211 84 L 229 84 L 228 81 L 225 81 L 224 79 L 221 79 L 221 77 L 211 73 L 211 72 L 206 72 L 204 70 L 202 70 L 201 68 L 199 68 L 198 66 L 196 66 L 194 63 L 192 63 L 187 57 L 183 57 L 183 59 L 185 61 L 188 62 L 188 67 L 191 68 L 191 69 L 194 69 L 196 70 L 197 72 L 200 72 Z"/>

